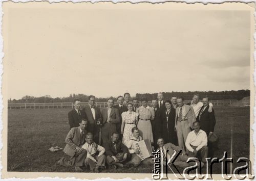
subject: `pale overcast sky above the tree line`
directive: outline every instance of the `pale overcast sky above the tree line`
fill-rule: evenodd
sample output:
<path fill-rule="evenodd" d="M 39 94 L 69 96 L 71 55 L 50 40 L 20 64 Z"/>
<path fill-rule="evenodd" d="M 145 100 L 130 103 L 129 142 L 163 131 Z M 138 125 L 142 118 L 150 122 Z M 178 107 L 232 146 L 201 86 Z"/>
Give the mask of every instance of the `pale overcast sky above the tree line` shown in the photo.
<path fill-rule="evenodd" d="M 8 15 L 8 98 L 250 89 L 246 11 L 41 8 Z"/>

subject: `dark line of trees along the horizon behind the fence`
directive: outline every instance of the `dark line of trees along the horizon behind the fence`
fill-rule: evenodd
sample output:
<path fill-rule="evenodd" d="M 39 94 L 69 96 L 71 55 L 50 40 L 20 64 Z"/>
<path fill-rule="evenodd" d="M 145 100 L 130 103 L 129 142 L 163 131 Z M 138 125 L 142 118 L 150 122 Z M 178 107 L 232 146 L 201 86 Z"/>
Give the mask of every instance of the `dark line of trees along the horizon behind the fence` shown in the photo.
<path fill-rule="evenodd" d="M 164 99 L 170 99 L 173 96 L 182 96 L 185 100 L 191 100 L 193 95 L 198 93 L 200 97 L 209 97 L 211 100 L 222 100 L 222 99 L 242 99 L 244 97 L 250 96 L 250 90 L 237 90 L 237 91 L 194 91 L 194 92 L 163 92 Z M 26 95 L 21 99 L 9 99 L 8 103 L 47 103 L 47 102 L 73 102 L 74 99 L 78 98 L 82 102 L 88 102 L 89 95 L 85 94 L 70 94 L 68 97 L 56 97 L 52 98 L 50 95 L 34 97 Z M 141 98 L 147 98 L 147 100 L 152 100 L 157 98 L 157 93 L 137 93 L 135 96 L 138 100 Z M 134 99 L 135 97 L 132 97 Z M 105 102 L 108 97 L 96 97 L 97 102 Z M 116 97 L 114 97 L 116 101 Z"/>

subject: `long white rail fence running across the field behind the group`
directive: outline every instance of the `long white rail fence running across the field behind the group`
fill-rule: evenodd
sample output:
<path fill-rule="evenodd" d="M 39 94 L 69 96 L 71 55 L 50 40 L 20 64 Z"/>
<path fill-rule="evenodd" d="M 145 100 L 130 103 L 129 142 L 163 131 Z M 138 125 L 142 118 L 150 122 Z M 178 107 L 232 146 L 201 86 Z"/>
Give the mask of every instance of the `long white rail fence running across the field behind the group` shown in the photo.
<path fill-rule="evenodd" d="M 214 106 L 228 106 L 233 102 L 237 102 L 236 99 L 225 99 L 225 100 L 210 100 Z M 190 100 L 185 100 L 185 103 L 190 102 Z M 151 105 L 151 101 L 148 101 Z M 81 102 L 81 107 L 88 105 L 88 102 Z M 106 108 L 106 102 L 96 102 L 95 105 L 98 108 Z M 141 106 L 141 102 L 139 103 Z M 9 103 L 8 109 L 65 109 L 73 108 L 72 102 L 50 102 L 50 103 Z"/>

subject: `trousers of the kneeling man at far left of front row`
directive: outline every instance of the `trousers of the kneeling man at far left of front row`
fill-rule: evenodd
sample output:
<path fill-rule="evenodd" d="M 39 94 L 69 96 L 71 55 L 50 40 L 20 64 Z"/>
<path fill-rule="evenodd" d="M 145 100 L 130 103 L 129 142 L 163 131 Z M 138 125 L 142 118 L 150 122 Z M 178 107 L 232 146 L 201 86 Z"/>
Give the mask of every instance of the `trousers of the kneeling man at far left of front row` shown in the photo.
<path fill-rule="evenodd" d="M 69 166 L 75 166 L 75 167 L 82 167 L 84 160 L 87 156 L 87 150 L 83 149 L 80 153 L 75 153 L 74 157 L 71 157 L 70 159 L 67 159 L 65 157 L 62 157 L 59 161 L 59 165 L 69 167 Z"/>

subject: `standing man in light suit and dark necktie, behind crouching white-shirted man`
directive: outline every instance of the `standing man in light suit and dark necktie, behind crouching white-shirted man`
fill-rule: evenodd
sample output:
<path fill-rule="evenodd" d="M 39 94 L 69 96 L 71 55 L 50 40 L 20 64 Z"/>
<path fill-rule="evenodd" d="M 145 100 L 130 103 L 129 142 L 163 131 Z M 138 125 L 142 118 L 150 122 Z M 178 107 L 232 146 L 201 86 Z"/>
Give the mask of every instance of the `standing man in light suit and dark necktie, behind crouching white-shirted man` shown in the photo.
<path fill-rule="evenodd" d="M 177 97 L 177 104 L 179 107 L 176 108 L 175 128 L 179 147 L 184 149 L 187 135 L 190 132 L 190 127 L 193 129 L 196 116 L 193 107 L 184 104 L 183 97 Z"/>

